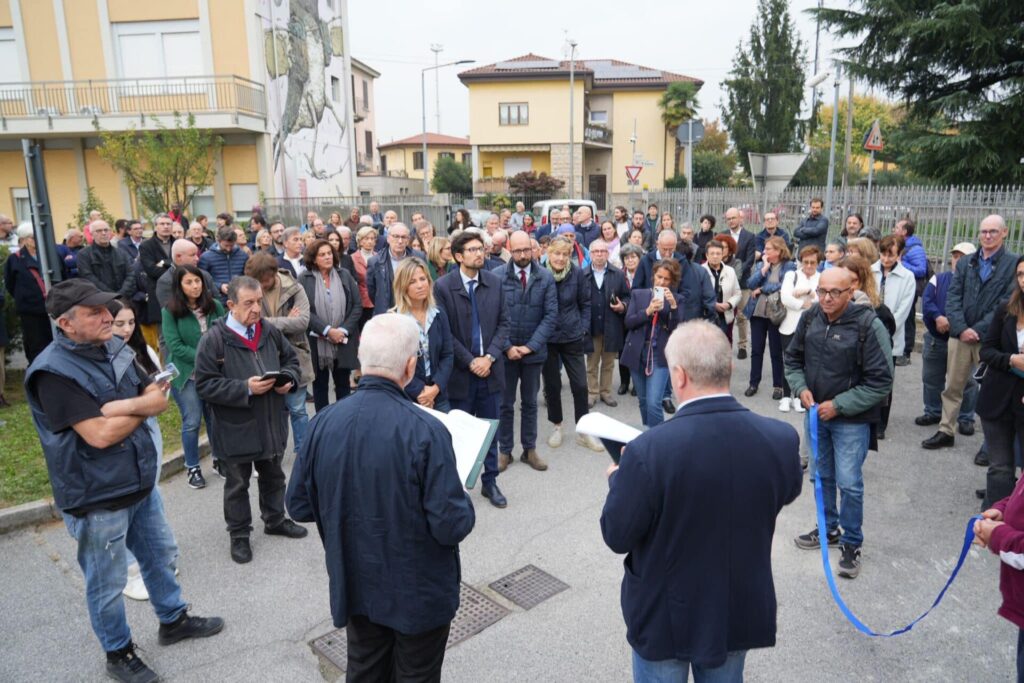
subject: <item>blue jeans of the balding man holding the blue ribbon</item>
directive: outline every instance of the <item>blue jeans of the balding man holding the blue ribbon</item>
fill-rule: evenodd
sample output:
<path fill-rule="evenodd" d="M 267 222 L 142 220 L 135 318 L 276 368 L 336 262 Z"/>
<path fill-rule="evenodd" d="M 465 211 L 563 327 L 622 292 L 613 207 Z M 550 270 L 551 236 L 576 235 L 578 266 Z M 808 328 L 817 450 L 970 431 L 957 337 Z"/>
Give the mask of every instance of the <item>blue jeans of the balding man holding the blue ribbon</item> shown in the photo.
<path fill-rule="evenodd" d="M 807 431 L 810 414 L 804 417 Z M 870 425 L 845 420 L 818 421 L 818 459 L 811 459 L 811 477 L 821 476 L 821 497 L 825 508 L 825 526 L 843 527 L 840 543 L 860 547 L 864 543 L 864 476 L 861 467 L 867 457 Z M 836 488 L 842 494 L 837 511 Z"/>

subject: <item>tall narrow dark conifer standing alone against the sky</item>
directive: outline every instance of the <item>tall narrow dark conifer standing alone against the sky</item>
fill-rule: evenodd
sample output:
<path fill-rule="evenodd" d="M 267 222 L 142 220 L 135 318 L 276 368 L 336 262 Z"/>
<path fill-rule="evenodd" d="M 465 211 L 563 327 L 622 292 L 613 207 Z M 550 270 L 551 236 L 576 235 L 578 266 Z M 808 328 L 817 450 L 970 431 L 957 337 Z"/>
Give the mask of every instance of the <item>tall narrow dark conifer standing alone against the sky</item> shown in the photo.
<path fill-rule="evenodd" d="M 799 152 L 807 122 L 804 101 L 804 47 L 785 0 L 759 0 L 750 45 L 740 40 L 725 80 L 722 120 L 739 163 L 750 171 L 748 153 Z"/>

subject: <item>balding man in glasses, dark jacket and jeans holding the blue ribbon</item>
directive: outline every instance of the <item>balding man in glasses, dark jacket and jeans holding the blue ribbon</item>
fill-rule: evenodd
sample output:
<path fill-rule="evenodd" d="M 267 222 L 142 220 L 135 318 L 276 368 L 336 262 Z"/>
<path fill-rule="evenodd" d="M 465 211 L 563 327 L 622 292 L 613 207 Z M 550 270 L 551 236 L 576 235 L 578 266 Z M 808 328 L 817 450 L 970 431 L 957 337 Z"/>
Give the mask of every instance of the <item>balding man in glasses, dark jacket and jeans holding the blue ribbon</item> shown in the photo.
<path fill-rule="evenodd" d="M 805 409 L 817 404 L 811 476 L 816 470 L 821 477 L 826 539 L 842 552 L 839 575 L 856 579 L 864 541 L 861 466 L 877 447 L 881 402 L 892 388 L 892 340 L 869 306 L 851 305 L 853 275 L 846 268 L 822 272 L 817 294 L 818 304 L 801 315 L 785 350 L 785 379 Z M 805 420 L 809 429 L 810 413 Z M 797 547 L 817 550 L 819 533 L 815 527 L 797 537 Z"/>

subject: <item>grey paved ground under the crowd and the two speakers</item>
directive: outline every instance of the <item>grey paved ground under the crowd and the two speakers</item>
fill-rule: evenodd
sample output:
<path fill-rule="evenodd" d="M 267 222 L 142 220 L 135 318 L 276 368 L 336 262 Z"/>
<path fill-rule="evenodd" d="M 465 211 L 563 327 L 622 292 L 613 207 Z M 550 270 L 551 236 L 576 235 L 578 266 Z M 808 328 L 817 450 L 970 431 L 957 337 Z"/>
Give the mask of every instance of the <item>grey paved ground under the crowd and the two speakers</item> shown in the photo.
<path fill-rule="evenodd" d="M 912 424 L 921 405 L 919 355 L 913 362 L 897 370 L 889 438 L 865 465 L 863 570 L 855 582 L 840 586 L 853 610 L 877 630 L 901 627 L 931 604 L 955 559 L 966 520 L 977 510 L 974 489 L 983 483 L 983 471 L 971 462 L 980 430 L 979 436 L 957 437 L 953 450 L 918 447 L 931 429 Z M 748 364 L 738 361 L 733 381 L 737 395 L 748 372 Z M 741 400 L 798 423 L 795 414 L 778 413 L 766 394 L 770 389 Z M 608 413 L 637 423 L 634 401 L 623 401 Z M 563 402 L 571 410 L 567 390 Z M 546 424 L 541 434 L 546 438 Z M 535 472 L 517 463 L 500 478 L 508 509 L 496 510 L 474 493 L 477 524 L 462 546 L 464 580 L 485 589 L 532 563 L 571 588 L 532 610 L 515 609 L 449 650 L 446 681 L 630 678 L 618 608 L 622 558 L 604 547 L 598 527 L 608 459 L 575 446 L 571 436 L 561 449 L 542 446 L 541 453 L 549 460 L 549 471 Z M 227 553 L 221 480 L 211 476 L 210 484 L 196 492 L 177 476 L 162 490 L 181 548 L 185 597 L 198 613 L 224 616 L 227 627 L 215 638 L 163 648 L 156 642 L 157 622 L 148 603 L 129 601 L 129 620 L 144 658 L 175 681 L 321 680 L 308 642 L 332 626 L 315 533 L 301 541 L 256 533 L 254 561 L 236 565 Z M 813 510 L 808 483 L 779 517 L 773 549 L 778 644 L 750 654 L 749 680 L 1013 678 L 1017 632 L 995 615 L 996 558 L 987 551 L 972 552 L 942 605 L 909 634 L 867 638 L 834 605 L 818 554 L 793 545 L 794 536 L 814 525 Z M 102 680 L 102 653 L 89 628 L 75 545 L 63 526 L 0 538 L 0 680 Z"/>

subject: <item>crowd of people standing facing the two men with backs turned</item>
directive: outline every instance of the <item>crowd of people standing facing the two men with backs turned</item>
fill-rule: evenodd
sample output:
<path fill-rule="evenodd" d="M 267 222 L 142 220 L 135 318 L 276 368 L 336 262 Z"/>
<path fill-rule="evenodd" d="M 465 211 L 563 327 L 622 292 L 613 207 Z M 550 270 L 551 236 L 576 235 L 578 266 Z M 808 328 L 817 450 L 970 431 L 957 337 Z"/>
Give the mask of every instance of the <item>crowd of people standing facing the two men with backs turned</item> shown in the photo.
<path fill-rule="evenodd" d="M 347 214 L 324 221 L 310 211 L 304 223 L 288 226 L 255 213 L 247 230 L 229 214 L 210 226 L 204 216 L 189 221 L 174 211 L 154 217 L 148 238 L 140 220 L 112 227 L 92 216 L 60 245 L 65 281 L 49 291 L 32 224 L 14 231 L 17 249 L 7 259 L 4 284 L 31 364 L 29 399 L 56 503 L 80 547 L 93 549 L 80 552 L 90 616 L 109 671 L 121 680 L 141 680 L 130 675 L 144 665 L 123 607 L 113 606 L 120 604 L 115 589 L 152 599 L 161 633 L 177 634 L 173 638 L 213 635 L 223 626 L 187 614 L 173 578 L 176 557 L 167 560 L 176 550 L 156 486 L 161 438 L 153 420 L 166 407 L 167 391 L 181 413 L 185 480 L 196 489 L 207 485 L 199 447 L 206 423 L 213 470 L 225 479 L 230 557 L 245 563 L 253 558 L 248 488 L 254 472 L 264 531 L 290 539 L 307 532 L 286 514 L 282 462 L 289 428 L 296 455 L 310 434 L 348 438 L 332 436 L 326 426 L 323 433 L 308 431 L 307 403 L 321 414 L 352 392 L 380 389 L 383 375 L 402 379 L 403 400 L 499 421 L 480 493 L 505 508 L 498 479 L 516 461 L 517 405 L 518 460 L 537 471 L 548 469 L 538 449 L 542 388 L 548 450 L 560 447 L 571 429 L 562 405 L 563 371 L 572 424 L 598 402 L 615 407 L 629 395 L 639 422 L 653 429 L 679 408 L 673 334 L 702 321 L 699 330 L 689 328 L 693 339 L 730 362 L 732 349 L 737 358 L 750 357 L 745 396 L 759 392 L 767 354 L 778 410 L 817 412 L 812 467 L 821 478 L 827 528 L 801 535 L 796 545 L 817 549 L 825 533 L 841 551 L 838 573 L 854 579 L 864 542 L 862 465 L 886 437 L 896 368 L 911 365 L 920 299 L 924 412 L 915 423 L 939 426 L 922 445 L 945 447 L 954 431 L 973 434 L 977 410 L 985 445 L 976 462 L 988 466 L 979 496 L 989 510 L 979 537 L 993 547 L 1004 538 L 992 527 L 1006 521 L 999 501 L 1014 490 L 1015 447 L 1024 433 L 1024 257 L 1004 246 L 1008 229 L 997 215 L 981 222 L 980 248 L 957 244 L 950 267 L 935 274 L 909 217 L 883 236 L 851 214 L 830 240 L 819 199 L 792 232 L 774 212 L 762 216 L 760 229 L 748 229 L 737 208 L 724 213 L 722 230 L 713 215 L 701 216 L 696 228 L 677 226 L 653 204 L 632 213 L 615 207 L 605 220 L 589 206 L 535 217 L 520 204 L 515 212 L 489 215 L 482 226 L 460 209 L 446 234 L 422 214 L 407 223 L 376 203 L 366 214 L 354 207 Z M 11 229 L 0 216 L 0 238 Z M 382 359 L 379 348 L 366 348 L 364 333 L 376 318 L 381 325 L 371 329 L 380 335 L 415 331 L 408 372 Z M 403 323 L 387 323 L 393 319 Z M 709 330 L 720 335 L 713 344 Z M 109 333 L 124 341 L 110 341 Z M 694 370 L 695 358 L 687 362 L 697 375 L 711 372 Z M 75 383 L 79 388 L 68 393 Z M 55 399 L 61 391 L 67 395 Z M 588 434 L 578 431 L 574 438 L 603 451 Z M 61 471 L 77 451 L 112 449 L 127 464 L 81 473 L 100 477 L 102 485 L 85 485 Z M 786 482 L 788 493 L 772 504 L 776 513 L 795 496 L 792 485 Z M 301 521 L 312 519 L 311 505 L 299 506 Z M 92 528 L 90 513 L 108 509 L 130 512 Z M 471 516 L 466 524 L 451 537 L 454 544 L 468 533 Z M 120 551 L 101 557 L 97 544 L 119 530 Z M 138 543 L 151 531 L 162 546 Z M 609 533 L 613 548 L 628 545 Z"/>

